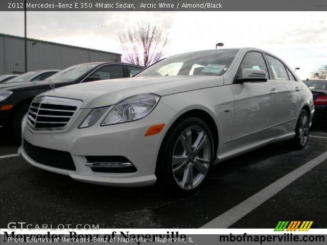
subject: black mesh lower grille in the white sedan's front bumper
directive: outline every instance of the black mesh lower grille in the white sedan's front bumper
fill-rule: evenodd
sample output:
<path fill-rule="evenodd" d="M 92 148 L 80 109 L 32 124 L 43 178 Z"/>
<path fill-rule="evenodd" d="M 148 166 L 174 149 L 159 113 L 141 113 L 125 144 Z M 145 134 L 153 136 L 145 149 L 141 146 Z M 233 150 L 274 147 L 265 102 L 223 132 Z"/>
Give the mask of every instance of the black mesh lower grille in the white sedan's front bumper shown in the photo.
<path fill-rule="evenodd" d="M 24 139 L 26 154 L 37 163 L 67 170 L 76 170 L 72 155 L 69 152 L 57 151 L 35 146 Z"/>

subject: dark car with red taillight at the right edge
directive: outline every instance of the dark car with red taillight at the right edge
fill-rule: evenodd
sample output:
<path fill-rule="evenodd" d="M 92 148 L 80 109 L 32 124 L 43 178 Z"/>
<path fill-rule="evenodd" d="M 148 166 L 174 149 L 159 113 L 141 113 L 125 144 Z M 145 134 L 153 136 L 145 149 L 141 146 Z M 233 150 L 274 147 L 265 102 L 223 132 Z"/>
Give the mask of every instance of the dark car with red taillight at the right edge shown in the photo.
<path fill-rule="evenodd" d="M 315 105 L 315 120 L 327 119 L 327 80 L 307 80 L 303 81 L 313 94 Z"/>

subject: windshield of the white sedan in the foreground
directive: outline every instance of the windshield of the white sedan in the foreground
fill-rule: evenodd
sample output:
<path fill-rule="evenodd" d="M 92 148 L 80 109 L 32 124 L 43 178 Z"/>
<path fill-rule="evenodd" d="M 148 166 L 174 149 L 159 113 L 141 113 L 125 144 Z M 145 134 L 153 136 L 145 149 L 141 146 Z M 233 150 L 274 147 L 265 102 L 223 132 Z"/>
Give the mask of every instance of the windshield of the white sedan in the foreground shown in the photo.
<path fill-rule="evenodd" d="M 229 68 L 238 50 L 211 50 L 168 57 L 139 72 L 150 76 L 221 76 Z"/>

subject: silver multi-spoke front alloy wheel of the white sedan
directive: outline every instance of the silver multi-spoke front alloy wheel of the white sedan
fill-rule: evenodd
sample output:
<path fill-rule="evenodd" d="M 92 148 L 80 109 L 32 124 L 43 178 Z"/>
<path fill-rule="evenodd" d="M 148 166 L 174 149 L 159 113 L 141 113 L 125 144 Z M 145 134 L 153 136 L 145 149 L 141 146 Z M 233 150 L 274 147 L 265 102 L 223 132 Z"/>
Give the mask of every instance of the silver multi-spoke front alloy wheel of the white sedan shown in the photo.
<path fill-rule="evenodd" d="M 185 129 L 177 139 L 172 157 L 173 175 L 183 189 L 193 189 L 206 176 L 212 145 L 206 131 L 199 126 Z"/>

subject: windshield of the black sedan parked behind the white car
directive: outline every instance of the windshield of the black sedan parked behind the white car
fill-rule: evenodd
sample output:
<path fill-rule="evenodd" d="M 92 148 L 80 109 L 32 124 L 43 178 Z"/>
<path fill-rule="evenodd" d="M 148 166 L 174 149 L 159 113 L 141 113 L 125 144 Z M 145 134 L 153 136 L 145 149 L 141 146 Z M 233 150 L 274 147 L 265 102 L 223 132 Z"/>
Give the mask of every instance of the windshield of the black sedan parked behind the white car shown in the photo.
<path fill-rule="evenodd" d="M 85 74 L 88 74 L 88 72 L 90 72 L 91 69 L 96 67 L 97 65 L 99 65 L 99 63 L 74 65 L 62 71 L 59 71 L 55 75 L 49 77 L 47 80 L 51 79 L 52 81 L 74 82 Z"/>

